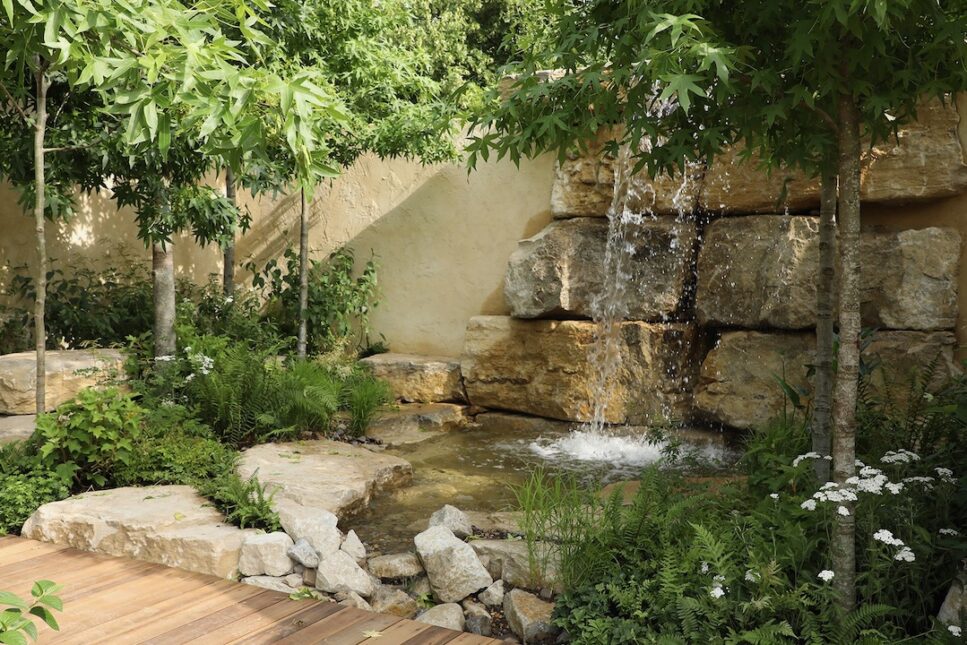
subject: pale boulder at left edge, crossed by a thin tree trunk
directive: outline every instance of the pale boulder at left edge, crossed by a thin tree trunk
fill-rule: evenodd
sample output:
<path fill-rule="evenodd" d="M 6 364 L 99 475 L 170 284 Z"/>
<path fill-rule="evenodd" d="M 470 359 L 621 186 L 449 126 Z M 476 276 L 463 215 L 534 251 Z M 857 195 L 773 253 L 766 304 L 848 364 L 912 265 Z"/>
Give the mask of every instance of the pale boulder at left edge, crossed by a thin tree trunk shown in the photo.
<path fill-rule="evenodd" d="M 71 349 L 47 352 L 47 410 L 78 392 L 107 380 L 124 378 L 124 356 L 114 349 Z M 35 352 L 0 356 L 0 414 L 36 412 Z"/>

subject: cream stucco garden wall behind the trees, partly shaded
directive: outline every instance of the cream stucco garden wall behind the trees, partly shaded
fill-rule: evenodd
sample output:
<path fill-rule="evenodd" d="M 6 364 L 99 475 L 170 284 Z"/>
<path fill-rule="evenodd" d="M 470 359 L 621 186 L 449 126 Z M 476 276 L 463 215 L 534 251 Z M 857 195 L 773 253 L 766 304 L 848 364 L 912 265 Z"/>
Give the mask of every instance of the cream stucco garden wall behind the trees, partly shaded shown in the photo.
<path fill-rule="evenodd" d="M 317 191 L 311 208 L 313 254 L 324 257 L 344 244 L 357 258 L 374 253 L 382 301 L 372 316 L 394 351 L 456 356 L 467 320 L 505 313 L 501 285 L 517 241 L 550 220 L 553 161 L 484 164 L 469 174 L 459 165 L 422 166 L 404 160 L 363 158 Z M 133 216 L 104 195 L 79 198 L 70 223 L 49 226 L 49 255 L 70 266 L 110 263 L 117 250 L 149 263 Z M 244 200 L 252 228 L 237 243 L 239 262 L 263 264 L 297 246 L 298 199 Z M 16 195 L 0 185 L 0 288 L 6 266 L 34 259 L 32 219 Z M 204 281 L 221 272 L 217 248 L 190 238 L 175 242 L 182 275 Z M 240 278 L 245 278 L 240 272 Z"/>

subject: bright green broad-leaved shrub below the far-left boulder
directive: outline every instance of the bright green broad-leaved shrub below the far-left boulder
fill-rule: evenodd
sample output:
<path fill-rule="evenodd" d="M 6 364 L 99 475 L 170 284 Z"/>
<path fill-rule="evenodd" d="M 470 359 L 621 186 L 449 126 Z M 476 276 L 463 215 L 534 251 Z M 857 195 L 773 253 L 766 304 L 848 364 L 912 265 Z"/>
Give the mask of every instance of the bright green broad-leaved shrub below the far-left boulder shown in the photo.
<path fill-rule="evenodd" d="M 144 409 L 117 388 L 86 389 L 37 417 L 40 464 L 74 488 L 103 487 L 134 458 Z"/>

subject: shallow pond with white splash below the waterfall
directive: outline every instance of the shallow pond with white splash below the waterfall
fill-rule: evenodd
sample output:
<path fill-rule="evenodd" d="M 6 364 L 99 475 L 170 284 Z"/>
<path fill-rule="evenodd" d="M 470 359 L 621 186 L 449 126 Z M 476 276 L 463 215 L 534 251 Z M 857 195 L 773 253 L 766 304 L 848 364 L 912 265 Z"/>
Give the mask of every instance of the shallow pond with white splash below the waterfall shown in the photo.
<path fill-rule="evenodd" d="M 488 413 L 466 429 L 433 433 L 386 452 L 413 465 L 413 482 L 377 495 L 346 522 L 373 550 L 413 549 L 413 536 L 444 504 L 486 513 L 512 510 L 514 487 L 538 467 L 570 473 L 588 484 L 633 480 L 679 446 L 676 467 L 689 473 L 725 473 L 738 458 L 734 438 L 700 428 L 667 430 L 664 438 L 641 427 L 595 433 L 570 424 Z"/>

